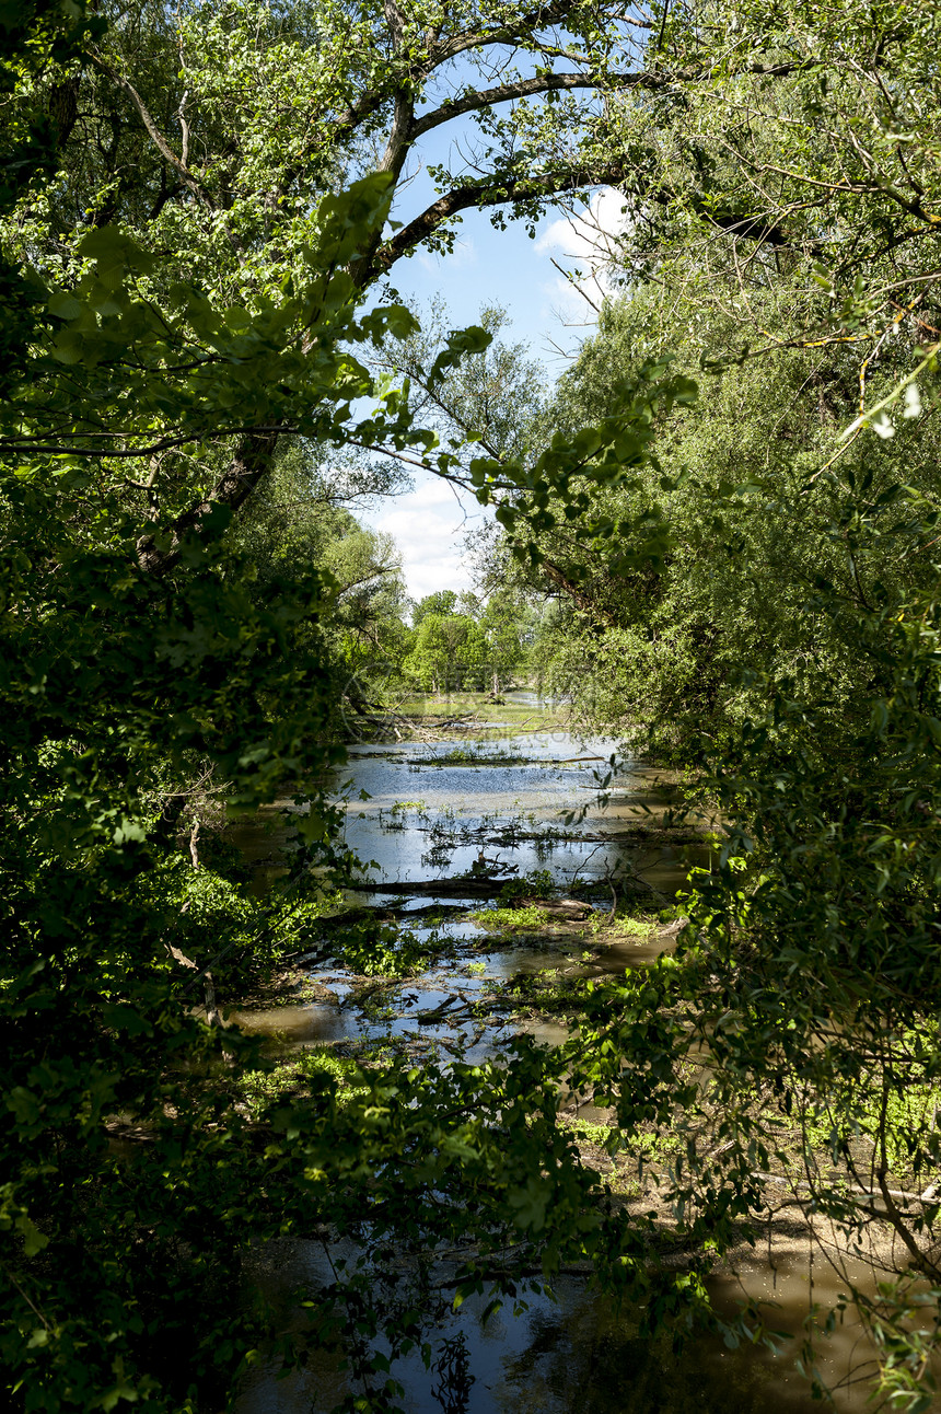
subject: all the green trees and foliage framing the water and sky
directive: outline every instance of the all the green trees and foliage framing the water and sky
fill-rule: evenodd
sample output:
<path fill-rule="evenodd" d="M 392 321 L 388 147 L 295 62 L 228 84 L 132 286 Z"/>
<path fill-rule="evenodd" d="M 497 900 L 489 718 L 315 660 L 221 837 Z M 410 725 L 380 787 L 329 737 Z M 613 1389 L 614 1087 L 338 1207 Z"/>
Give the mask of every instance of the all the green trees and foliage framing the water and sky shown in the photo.
<path fill-rule="evenodd" d="M 0 42 L 8 1406 L 215 1411 L 263 1346 L 349 1325 L 348 1407 L 396 1408 L 430 1307 L 350 1268 L 285 1333 L 253 1282 L 266 1243 L 328 1232 L 470 1234 L 456 1299 L 588 1258 L 678 1338 L 786 1164 L 844 1233 L 894 1233 L 894 1280 L 846 1301 L 875 1407 L 934 1407 L 937 11 L 32 0 Z M 407 218 L 446 124 L 473 163 Z M 599 187 L 619 253 L 555 387 L 497 311 L 449 331 L 398 298 L 462 211 L 533 226 Z M 415 467 L 493 519 L 480 595 L 413 614 L 357 508 Z M 350 734 L 455 672 L 538 673 L 721 813 L 678 949 L 555 1051 L 249 1106 L 271 1062 L 216 993 L 349 878 Z M 300 848 L 260 902 L 220 826 L 285 786 Z M 682 1135 L 665 1246 L 579 1162 L 562 1076 L 615 1145 Z"/>

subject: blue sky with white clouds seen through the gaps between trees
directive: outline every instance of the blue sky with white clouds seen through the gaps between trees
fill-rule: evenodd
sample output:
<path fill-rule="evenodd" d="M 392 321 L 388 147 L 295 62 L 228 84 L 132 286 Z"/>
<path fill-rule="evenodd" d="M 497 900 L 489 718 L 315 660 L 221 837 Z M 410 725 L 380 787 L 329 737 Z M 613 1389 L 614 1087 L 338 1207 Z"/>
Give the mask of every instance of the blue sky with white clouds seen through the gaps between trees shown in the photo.
<path fill-rule="evenodd" d="M 438 137 L 442 132 L 431 136 Z M 425 147 L 421 156 L 430 163 L 444 163 L 448 157 L 454 163 L 456 150 L 451 141 L 438 137 L 438 143 Z M 434 195 L 431 181 L 420 168 L 397 202 L 396 218 L 408 221 Z M 567 365 L 567 355 L 575 354 L 581 341 L 591 335 L 595 312 L 552 260 L 567 269 L 586 271 L 588 257 L 595 249 L 595 228 L 610 230 L 619 223 L 620 201 L 610 191 L 596 195 L 588 212 L 588 225 L 574 225 L 558 211 L 543 218 L 535 240 L 530 239 L 521 221 L 509 222 L 504 230 L 497 230 L 486 212 L 466 211 L 456 228 L 455 250 L 449 256 L 418 252 L 411 259 L 400 260 L 393 271 L 393 284 L 410 304 L 427 305 L 434 296 L 442 296 L 456 328 L 476 324 L 485 304 L 503 305 L 511 321 L 503 337 L 509 342 L 528 344 L 530 356 L 544 363 L 547 382 L 554 382 Z M 586 288 L 599 303 L 596 283 L 589 279 Z M 472 498 L 462 503 L 446 482 L 418 474 L 414 491 L 381 502 L 362 519 L 396 539 L 408 592 L 413 598 L 422 598 L 434 590 L 472 588 L 463 537 L 480 513 Z"/>

